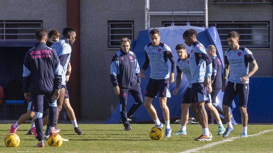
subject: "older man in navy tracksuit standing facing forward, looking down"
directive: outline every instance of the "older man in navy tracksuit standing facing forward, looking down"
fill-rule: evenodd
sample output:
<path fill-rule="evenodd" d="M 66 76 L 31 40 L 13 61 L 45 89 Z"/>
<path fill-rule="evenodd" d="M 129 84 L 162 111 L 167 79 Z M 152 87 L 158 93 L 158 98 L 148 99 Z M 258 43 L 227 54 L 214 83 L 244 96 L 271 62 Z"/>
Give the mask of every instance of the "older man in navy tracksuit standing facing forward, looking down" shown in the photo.
<path fill-rule="evenodd" d="M 140 68 L 135 53 L 129 51 L 130 45 L 131 41 L 128 38 L 120 40 L 121 49 L 113 55 L 110 67 L 111 82 L 115 94 L 119 95 L 121 121 L 126 131 L 132 130 L 129 118 L 143 103 L 140 89 Z M 126 106 L 129 92 L 134 97 L 135 103 L 127 113 Z"/>

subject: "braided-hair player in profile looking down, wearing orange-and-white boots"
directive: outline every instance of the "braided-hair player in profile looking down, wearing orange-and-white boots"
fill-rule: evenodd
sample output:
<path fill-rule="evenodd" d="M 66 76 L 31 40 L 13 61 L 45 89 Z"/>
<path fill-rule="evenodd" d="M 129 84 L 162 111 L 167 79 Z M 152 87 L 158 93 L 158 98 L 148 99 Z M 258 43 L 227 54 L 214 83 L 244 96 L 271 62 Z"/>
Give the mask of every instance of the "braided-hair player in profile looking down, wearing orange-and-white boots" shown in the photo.
<path fill-rule="evenodd" d="M 190 73 L 192 76 L 191 101 L 194 101 L 203 127 L 203 134 L 195 138 L 196 141 L 211 141 L 208 130 L 208 116 L 205 110 L 205 101 L 210 100 L 212 91 L 210 77 L 212 74 L 212 61 L 204 45 L 196 39 L 197 32 L 188 29 L 183 33 L 185 44 L 192 46 L 190 51 Z"/>

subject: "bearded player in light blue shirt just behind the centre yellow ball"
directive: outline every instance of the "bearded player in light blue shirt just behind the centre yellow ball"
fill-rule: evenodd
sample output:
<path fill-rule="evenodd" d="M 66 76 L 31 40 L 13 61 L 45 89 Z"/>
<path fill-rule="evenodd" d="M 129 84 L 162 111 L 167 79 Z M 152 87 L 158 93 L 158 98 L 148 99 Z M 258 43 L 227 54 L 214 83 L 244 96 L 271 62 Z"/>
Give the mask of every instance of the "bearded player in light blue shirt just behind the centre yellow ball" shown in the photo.
<path fill-rule="evenodd" d="M 147 44 L 144 48 L 145 62 L 142 66 L 140 76 L 141 79 L 145 79 L 144 71 L 150 64 L 151 72 L 149 83 L 145 89 L 145 101 L 144 107 L 147 109 L 150 116 L 153 118 L 155 126 L 163 128 L 163 124 L 159 121 L 156 110 L 152 105 L 153 98 L 159 92 L 159 103 L 163 111 L 163 116 L 166 124 L 165 137 L 171 136 L 170 115 L 169 108 L 167 106 L 167 97 L 171 98 L 169 90 L 169 83 L 174 82 L 174 73 L 176 62 L 172 54 L 170 47 L 160 40 L 160 34 L 158 29 L 152 29 L 150 31 L 151 43 Z M 172 63 L 172 72 L 170 77 L 168 60 Z"/>

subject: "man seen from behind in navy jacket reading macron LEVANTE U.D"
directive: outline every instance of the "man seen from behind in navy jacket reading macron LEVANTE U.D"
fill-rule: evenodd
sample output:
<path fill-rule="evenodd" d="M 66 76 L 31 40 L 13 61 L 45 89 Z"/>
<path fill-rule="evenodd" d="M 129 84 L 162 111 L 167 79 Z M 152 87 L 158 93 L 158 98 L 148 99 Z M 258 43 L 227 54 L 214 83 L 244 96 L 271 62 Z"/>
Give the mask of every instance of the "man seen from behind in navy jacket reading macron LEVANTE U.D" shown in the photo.
<path fill-rule="evenodd" d="M 39 142 L 35 147 L 44 147 L 43 142 L 43 96 L 49 101 L 49 123 L 51 132 L 58 133 L 56 126 L 57 101 L 61 85 L 62 67 L 55 50 L 46 46 L 47 32 L 36 31 L 35 46 L 30 49 L 24 60 L 23 83 L 25 98 L 32 98 L 35 112 L 36 137 Z"/>

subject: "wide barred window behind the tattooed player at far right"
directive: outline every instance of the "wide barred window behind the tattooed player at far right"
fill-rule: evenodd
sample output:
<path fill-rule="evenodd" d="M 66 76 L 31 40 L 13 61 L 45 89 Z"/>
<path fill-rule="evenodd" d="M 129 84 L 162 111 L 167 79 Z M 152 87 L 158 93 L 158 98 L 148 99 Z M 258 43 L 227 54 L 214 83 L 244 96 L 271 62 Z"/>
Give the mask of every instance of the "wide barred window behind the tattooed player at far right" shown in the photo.
<path fill-rule="evenodd" d="M 162 22 L 163 27 L 172 22 Z M 186 22 L 174 22 L 176 26 L 186 25 Z M 203 27 L 204 22 L 190 22 L 191 26 Z M 227 34 L 236 31 L 240 35 L 239 44 L 245 47 L 269 48 L 269 22 L 209 22 L 215 26 L 220 36 L 222 47 L 228 47 Z"/>

